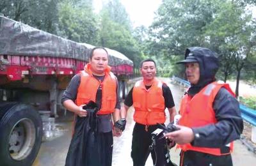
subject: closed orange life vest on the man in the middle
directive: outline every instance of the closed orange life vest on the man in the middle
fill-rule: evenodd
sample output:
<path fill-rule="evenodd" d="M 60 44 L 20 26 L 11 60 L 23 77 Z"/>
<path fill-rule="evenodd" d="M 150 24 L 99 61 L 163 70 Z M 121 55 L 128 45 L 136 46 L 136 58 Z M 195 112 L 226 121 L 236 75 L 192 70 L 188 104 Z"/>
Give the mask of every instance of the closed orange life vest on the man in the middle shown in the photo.
<path fill-rule="evenodd" d="M 149 89 L 146 89 L 142 80 L 136 82 L 132 91 L 134 121 L 145 125 L 165 122 L 162 86 L 163 82 L 157 79 Z"/>

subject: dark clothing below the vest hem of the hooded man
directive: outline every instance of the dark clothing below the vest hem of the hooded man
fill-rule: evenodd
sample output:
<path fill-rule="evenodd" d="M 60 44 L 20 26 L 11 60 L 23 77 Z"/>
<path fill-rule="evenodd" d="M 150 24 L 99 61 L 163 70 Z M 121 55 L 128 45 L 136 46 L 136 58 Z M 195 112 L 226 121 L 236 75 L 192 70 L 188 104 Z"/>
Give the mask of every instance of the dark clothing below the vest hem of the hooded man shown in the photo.
<path fill-rule="evenodd" d="M 182 154 L 184 153 L 184 154 Z M 180 153 L 180 166 L 232 166 L 231 155 L 215 156 L 196 151 Z"/>

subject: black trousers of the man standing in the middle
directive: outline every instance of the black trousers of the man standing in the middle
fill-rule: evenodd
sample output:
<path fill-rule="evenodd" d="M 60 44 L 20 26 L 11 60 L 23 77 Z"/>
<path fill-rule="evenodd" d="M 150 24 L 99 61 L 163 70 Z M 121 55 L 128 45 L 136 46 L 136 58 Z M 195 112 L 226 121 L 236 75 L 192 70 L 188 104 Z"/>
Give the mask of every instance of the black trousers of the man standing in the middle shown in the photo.
<path fill-rule="evenodd" d="M 157 139 L 156 146 L 152 151 L 148 148 L 152 144 L 151 133 L 157 129 L 157 125 L 148 126 L 148 131 L 145 130 L 145 125 L 136 123 L 132 132 L 132 151 L 131 157 L 134 166 L 144 166 L 149 153 L 154 165 L 165 166 L 173 165 L 170 161 L 169 151 L 166 147 L 166 140 Z"/>

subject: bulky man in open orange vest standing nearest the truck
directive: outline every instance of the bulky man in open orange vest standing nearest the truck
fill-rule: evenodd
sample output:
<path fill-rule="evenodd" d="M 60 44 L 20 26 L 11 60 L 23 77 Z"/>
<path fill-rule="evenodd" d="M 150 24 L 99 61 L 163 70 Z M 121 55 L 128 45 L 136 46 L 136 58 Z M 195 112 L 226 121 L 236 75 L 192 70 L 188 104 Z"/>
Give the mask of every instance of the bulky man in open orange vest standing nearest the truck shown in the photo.
<path fill-rule="evenodd" d="M 72 78 L 61 100 L 67 110 L 78 116 L 75 121 L 74 136 L 76 137 L 71 140 L 66 165 L 112 165 L 113 132 L 114 136 L 120 136 L 119 130 L 112 132 L 113 122 L 111 121 L 111 117 L 114 123 L 120 119 L 120 98 L 117 92 L 118 82 L 115 75 L 110 72 L 107 50 L 102 47 L 93 48 L 90 63 Z M 109 97 L 111 100 L 108 100 Z M 92 112 L 84 108 L 92 102 L 97 104 L 97 116 L 95 112 L 92 116 Z M 82 123 L 85 121 L 88 123 Z M 91 125 L 92 121 L 95 123 Z M 87 126 L 81 129 L 83 124 Z M 89 129 L 93 130 L 93 134 L 90 134 L 92 130 Z M 84 130 L 88 130 L 88 133 L 83 134 Z M 74 154 L 74 148 L 81 146 L 76 144 L 76 140 L 81 139 L 86 146 L 79 151 L 81 154 Z M 90 143 L 93 143 L 94 147 Z M 76 158 L 78 155 L 79 158 Z"/>

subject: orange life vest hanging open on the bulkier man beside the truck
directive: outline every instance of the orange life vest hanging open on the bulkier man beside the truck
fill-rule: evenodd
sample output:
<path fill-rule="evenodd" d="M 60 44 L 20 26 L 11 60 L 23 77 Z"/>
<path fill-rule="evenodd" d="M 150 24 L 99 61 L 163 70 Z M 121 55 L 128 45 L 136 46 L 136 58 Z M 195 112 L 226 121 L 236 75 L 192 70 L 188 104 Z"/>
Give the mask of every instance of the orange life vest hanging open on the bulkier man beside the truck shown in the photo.
<path fill-rule="evenodd" d="M 111 68 L 105 71 L 105 77 L 103 82 L 100 82 L 92 75 L 90 70 L 90 63 L 86 64 L 84 70 L 80 72 L 81 82 L 77 89 L 76 104 L 82 105 L 88 103 L 90 100 L 95 102 L 97 89 L 101 85 L 102 87 L 102 102 L 101 109 L 97 114 L 111 114 L 115 110 L 116 105 L 116 78 L 115 75 L 110 72 Z"/>

